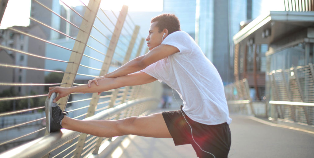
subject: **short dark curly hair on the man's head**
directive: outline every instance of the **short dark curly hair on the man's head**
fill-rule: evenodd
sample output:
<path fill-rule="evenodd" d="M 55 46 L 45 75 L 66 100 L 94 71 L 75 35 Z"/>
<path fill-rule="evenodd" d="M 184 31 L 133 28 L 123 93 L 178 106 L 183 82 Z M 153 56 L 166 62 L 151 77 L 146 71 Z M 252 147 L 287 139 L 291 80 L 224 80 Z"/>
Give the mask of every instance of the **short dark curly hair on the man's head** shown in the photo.
<path fill-rule="evenodd" d="M 180 21 L 175 14 L 160 14 L 152 18 L 150 23 L 153 23 L 155 21 L 158 21 L 156 26 L 159 28 L 159 32 L 167 29 L 169 35 L 172 32 L 180 31 Z"/>

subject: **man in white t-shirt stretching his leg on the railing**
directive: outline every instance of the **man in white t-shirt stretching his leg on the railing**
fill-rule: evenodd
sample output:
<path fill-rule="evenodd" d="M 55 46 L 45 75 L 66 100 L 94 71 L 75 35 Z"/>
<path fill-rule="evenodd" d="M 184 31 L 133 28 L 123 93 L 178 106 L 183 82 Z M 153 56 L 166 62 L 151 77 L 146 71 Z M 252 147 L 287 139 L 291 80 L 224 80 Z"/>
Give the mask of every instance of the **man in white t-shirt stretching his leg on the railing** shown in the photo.
<path fill-rule="evenodd" d="M 146 41 L 150 52 L 109 74 L 80 86 L 50 87 L 48 97 L 54 92 L 58 96 L 46 107 L 48 132 L 66 128 L 99 137 L 134 134 L 172 138 L 175 145 L 192 144 L 198 157 L 227 157 L 231 119 L 224 87 L 214 65 L 195 41 L 180 30 L 180 22 L 173 14 L 152 18 Z M 178 92 L 184 104 L 181 110 L 120 120 L 82 121 L 64 116 L 67 113 L 56 104 L 74 92 L 101 93 L 157 79 Z"/>

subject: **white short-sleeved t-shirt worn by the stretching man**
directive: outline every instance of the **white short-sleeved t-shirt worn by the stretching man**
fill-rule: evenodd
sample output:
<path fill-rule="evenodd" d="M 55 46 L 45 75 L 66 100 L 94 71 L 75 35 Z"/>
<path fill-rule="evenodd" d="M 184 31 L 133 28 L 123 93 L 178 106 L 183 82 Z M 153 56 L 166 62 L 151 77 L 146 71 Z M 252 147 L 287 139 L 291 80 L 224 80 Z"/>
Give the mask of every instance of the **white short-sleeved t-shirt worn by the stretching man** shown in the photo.
<path fill-rule="evenodd" d="M 190 35 L 176 31 L 161 43 L 180 52 L 141 70 L 176 90 L 183 100 L 183 111 L 192 120 L 215 125 L 231 123 L 224 86 L 217 69 L 205 57 Z"/>

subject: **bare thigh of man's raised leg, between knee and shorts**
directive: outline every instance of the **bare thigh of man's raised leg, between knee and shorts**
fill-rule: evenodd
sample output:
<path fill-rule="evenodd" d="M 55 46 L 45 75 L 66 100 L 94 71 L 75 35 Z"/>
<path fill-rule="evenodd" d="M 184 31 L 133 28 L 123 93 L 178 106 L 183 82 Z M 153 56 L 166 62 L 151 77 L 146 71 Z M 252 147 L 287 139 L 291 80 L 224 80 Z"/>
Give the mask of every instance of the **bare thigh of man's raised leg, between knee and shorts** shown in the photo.
<path fill-rule="evenodd" d="M 122 119 L 127 134 L 154 138 L 172 138 L 164 117 L 161 113 L 155 113 L 143 117 L 129 117 Z"/>

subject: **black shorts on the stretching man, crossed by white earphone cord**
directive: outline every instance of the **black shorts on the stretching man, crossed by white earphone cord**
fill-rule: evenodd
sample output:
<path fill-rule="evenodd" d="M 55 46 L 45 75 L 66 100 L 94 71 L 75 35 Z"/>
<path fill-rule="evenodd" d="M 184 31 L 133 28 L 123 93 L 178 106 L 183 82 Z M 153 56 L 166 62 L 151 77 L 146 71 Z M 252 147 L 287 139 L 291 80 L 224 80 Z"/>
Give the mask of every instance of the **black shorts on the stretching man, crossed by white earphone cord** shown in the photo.
<path fill-rule="evenodd" d="M 182 111 L 182 106 L 181 106 Z M 175 145 L 192 144 L 198 157 L 226 158 L 231 145 L 231 132 L 227 123 L 218 125 L 206 125 L 191 120 L 182 111 L 187 122 L 192 127 L 193 138 L 197 144 L 207 152 L 204 152 L 194 142 L 191 135 L 191 128 L 185 121 L 180 110 L 162 112 L 165 123 L 172 136 Z"/>

